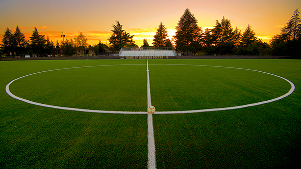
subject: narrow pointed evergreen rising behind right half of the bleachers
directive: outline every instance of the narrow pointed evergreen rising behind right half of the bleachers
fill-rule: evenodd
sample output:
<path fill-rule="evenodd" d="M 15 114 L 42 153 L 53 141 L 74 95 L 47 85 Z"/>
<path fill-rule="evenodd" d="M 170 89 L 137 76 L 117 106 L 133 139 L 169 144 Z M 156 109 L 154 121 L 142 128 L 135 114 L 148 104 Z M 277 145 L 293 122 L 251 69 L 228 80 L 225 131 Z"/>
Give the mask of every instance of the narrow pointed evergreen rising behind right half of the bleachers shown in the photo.
<path fill-rule="evenodd" d="M 157 29 L 157 33 L 156 33 L 156 35 L 154 36 L 154 39 L 153 39 L 154 47 L 165 47 L 167 37 L 168 37 L 167 36 L 167 29 L 161 22 L 159 24 L 159 28 Z"/>

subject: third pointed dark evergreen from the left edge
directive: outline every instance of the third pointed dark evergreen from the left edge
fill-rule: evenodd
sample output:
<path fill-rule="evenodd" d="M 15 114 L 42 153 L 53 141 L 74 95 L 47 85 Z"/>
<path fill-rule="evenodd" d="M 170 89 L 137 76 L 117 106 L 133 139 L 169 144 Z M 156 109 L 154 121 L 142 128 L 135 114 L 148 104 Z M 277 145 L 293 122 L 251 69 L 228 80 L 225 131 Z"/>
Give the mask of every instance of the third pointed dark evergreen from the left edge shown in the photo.
<path fill-rule="evenodd" d="M 43 57 L 45 54 L 45 35 L 40 35 L 37 28 L 35 27 L 32 36 L 30 37 L 31 41 L 31 52 L 32 54 L 36 54 L 39 57 Z"/>

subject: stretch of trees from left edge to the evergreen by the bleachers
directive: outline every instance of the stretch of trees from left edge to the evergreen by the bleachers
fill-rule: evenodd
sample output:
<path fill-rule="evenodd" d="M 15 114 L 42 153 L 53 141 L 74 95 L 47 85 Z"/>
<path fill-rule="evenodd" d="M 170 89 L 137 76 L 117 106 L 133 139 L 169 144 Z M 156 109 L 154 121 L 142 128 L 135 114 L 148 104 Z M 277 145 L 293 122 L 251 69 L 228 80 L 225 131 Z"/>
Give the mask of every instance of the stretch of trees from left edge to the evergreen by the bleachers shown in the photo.
<path fill-rule="evenodd" d="M 82 51 L 84 55 L 84 49 L 92 48 L 94 53 L 101 53 L 105 51 L 105 44 L 99 43 L 97 45 L 88 46 L 88 39 L 82 32 L 79 33 L 74 39 L 66 39 L 65 41 L 57 41 L 54 45 L 53 41 L 49 38 L 45 38 L 44 35 L 39 34 L 36 27 L 30 37 L 30 40 L 26 40 L 23 33 L 21 33 L 18 25 L 14 33 L 7 28 L 1 44 L 1 55 L 4 57 L 24 57 L 24 55 L 31 55 L 35 57 L 46 57 L 54 55 L 54 48 L 61 48 L 62 55 L 72 56 L 77 53 L 77 49 Z"/>

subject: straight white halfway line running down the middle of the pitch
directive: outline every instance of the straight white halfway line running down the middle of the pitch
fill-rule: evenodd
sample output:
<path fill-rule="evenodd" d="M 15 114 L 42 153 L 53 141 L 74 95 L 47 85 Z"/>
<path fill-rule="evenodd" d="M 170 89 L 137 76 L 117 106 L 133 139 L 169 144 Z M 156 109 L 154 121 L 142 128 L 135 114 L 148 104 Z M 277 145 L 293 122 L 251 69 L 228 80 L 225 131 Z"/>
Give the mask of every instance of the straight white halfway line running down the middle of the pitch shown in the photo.
<path fill-rule="evenodd" d="M 147 107 L 152 105 L 152 100 L 150 99 L 150 86 L 149 86 L 149 70 L 148 70 L 148 60 L 147 62 Z M 148 125 L 148 163 L 147 167 L 149 169 L 156 168 L 156 148 L 155 148 L 155 137 L 154 137 L 154 127 L 153 127 L 153 114 L 147 115 L 147 125 Z"/>

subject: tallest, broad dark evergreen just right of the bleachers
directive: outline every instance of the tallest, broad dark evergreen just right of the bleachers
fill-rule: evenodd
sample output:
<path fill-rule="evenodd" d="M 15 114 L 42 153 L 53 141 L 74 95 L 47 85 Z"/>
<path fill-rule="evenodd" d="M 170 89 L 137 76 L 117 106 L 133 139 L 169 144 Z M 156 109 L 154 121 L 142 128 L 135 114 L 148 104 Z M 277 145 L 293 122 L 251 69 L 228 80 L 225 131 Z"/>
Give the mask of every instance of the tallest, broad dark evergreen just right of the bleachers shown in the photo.
<path fill-rule="evenodd" d="M 202 28 L 197 25 L 197 20 L 187 8 L 181 16 L 177 32 L 173 36 L 175 48 L 179 51 L 195 51 L 200 47 Z"/>

